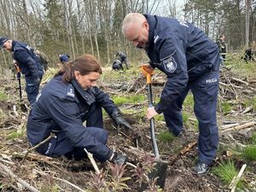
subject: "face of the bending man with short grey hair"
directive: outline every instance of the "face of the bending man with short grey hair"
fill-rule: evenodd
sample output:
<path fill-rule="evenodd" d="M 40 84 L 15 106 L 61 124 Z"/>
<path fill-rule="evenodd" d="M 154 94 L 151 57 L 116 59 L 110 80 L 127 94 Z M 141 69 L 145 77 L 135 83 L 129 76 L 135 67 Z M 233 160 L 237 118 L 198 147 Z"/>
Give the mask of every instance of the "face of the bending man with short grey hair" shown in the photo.
<path fill-rule="evenodd" d="M 145 49 L 148 46 L 148 22 L 144 22 L 143 25 L 131 24 L 127 27 L 124 34 L 127 40 L 139 49 Z"/>

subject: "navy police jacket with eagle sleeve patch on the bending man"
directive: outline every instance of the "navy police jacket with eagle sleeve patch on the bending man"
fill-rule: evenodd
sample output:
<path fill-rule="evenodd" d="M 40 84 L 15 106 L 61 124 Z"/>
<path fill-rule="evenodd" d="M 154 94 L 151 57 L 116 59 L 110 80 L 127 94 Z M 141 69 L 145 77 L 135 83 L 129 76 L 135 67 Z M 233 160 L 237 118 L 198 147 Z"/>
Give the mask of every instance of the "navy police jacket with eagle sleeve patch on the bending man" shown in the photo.
<path fill-rule="evenodd" d="M 155 15 L 144 15 L 149 24 L 148 47 L 151 67 L 166 73 L 167 82 L 160 102 L 154 107 L 162 113 L 189 82 L 218 70 L 218 46 L 189 22 Z"/>

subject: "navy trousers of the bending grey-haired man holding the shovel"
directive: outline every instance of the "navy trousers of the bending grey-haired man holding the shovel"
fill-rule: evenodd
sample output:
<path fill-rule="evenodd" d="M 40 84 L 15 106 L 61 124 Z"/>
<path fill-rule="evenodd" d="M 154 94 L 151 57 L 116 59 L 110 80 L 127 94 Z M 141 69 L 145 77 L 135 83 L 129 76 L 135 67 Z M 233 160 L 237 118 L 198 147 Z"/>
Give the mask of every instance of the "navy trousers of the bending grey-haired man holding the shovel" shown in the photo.
<path fill-rule="evenodd" d="M 164 111 L 166 126 L 174 135 L 183 130 L 182 105 L 189 90 L 194 97 L 194 112 L 199 122 L 199 160 L 210 165 L 218 148 L 218 125 L 216 118 L 218 102 L 218 71 L 207 73 L 190 82 L 177 101 Z"/>

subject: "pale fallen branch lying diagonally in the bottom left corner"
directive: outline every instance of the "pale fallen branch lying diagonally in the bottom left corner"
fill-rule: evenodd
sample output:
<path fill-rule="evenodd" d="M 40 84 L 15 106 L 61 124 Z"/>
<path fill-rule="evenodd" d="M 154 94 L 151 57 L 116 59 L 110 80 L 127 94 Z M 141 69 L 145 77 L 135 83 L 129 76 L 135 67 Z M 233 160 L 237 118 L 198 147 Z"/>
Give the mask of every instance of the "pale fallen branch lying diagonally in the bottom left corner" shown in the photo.
<path fill-rule="evenodd" d="M 12 172 L 7 166 L 4 166 L 2 163 L 0 163 L 0 168 L 1 168 L 0 173 L 4 177 L 11 177 L 12 179 L 15 179 L 17 181 L 17 183 L 20 183 L 22 186 L 26 187 L 26 189 L 28 189 L 29 191 L 39 192 L 38 189 L 33 187 L 30 183 L 27 183 L 26 181 L 24 181 L 20 177 L 16 176 L 14 172 Z"/>

